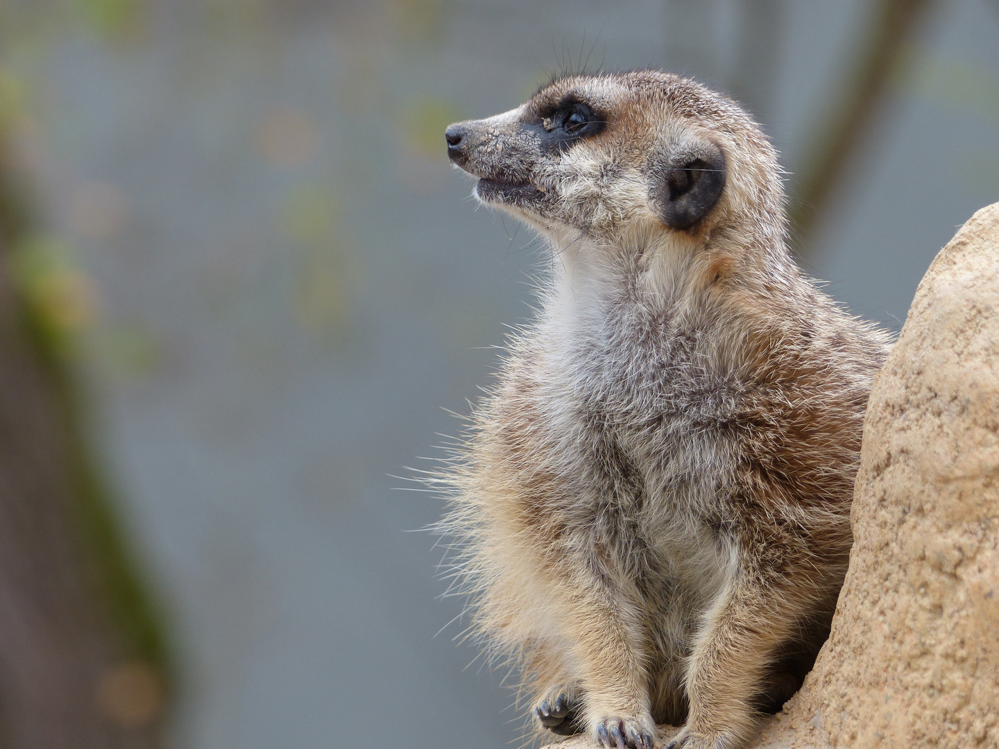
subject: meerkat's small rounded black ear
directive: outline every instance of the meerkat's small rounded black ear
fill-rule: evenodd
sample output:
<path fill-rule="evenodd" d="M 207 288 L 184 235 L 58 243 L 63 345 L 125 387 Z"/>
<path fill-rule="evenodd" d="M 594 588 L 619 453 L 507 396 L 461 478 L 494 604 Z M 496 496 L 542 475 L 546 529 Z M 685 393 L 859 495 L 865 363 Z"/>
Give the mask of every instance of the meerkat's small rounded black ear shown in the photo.
<path fill-rule="evenodd" d="M 718 202 L 725 188 L 725 155 L 714 144 L 681 148 L 649 163 L 648 193 L 670 229 L 690 229 Z"/>

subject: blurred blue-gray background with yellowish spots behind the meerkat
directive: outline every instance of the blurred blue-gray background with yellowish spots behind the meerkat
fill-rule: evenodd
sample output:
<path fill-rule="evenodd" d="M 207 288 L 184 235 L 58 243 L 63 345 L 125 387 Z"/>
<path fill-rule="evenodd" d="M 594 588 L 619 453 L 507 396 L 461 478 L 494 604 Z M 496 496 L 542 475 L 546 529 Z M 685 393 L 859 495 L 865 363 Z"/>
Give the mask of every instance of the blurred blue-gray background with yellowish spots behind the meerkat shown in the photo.
<path fill-rule="evenodd" d="M 61 274 L 86 433 L 173 642 L 168 745 L 517 741 L 502 672 L 446 626 L 441 550 L 410 532 L 442 500 L 396 490 L 458 432 L 448 410 L 544 267 L 470 199 L 444 128 L 559 69 L 664 68 L 743 100 L 793 190 L 877 5 L 0 4 L 33 252 Z M 840 176 L 794 204 L 809 272 L 895 330 L 999 200 L 999 3 L 924 5 Z"/>

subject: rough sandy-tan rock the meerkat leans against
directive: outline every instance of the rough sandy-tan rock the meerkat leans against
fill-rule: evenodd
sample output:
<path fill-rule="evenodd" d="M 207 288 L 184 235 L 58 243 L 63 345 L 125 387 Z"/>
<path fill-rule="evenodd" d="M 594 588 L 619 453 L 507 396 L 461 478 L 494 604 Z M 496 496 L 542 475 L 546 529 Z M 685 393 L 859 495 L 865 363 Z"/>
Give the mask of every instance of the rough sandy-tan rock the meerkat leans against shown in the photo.
<path fill-rule="evenodd" d="M 874 382 L 852 524 L 829 640 L 756 746 L 999 747 L 999 203 L 933 261 Z"/>

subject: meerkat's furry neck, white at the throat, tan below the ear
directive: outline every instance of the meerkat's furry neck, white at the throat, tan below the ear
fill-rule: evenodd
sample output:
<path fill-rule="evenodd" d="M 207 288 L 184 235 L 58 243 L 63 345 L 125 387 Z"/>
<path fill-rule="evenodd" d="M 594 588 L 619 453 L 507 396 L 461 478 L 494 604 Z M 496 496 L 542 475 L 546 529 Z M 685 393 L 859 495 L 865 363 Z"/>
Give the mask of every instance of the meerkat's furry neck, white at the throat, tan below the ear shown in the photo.
<path fill-rule="evenodd" d="M 723 252 L 677 232 L 625 236 L 612 245 L 554 237 L 539 323 L 563 362 L 590 356 L 610 338 L 640 340 L 667 326 L 713 330 L 716 364 L 741 367 L 754 351 L 746 337 L 759 330 L 760 316 L 772 323 L 781 314 L 774 295 L 794 297 L 805 283 L 779 237 L 747 238 L 741 247 Z"/>

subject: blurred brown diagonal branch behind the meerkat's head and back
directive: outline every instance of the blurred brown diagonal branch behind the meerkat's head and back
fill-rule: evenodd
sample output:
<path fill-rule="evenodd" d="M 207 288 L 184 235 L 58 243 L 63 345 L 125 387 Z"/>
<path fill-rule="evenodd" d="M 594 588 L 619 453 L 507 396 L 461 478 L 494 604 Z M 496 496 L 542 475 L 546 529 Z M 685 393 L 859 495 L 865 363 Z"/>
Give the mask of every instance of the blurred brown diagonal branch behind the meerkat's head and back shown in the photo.
<path fill-rule="evenodd" d="M 807 254 L 811 234 L 828 208 L 851 158 L 871 131 L 885 91 L 904 62 L 906 43 L 931 0 L 880 0 L 874 22 L 845 80 L 844 93 L 824 131 L 806 152 L 806 166 L 793 188 L 791 228 L 798 251 Z"/>

